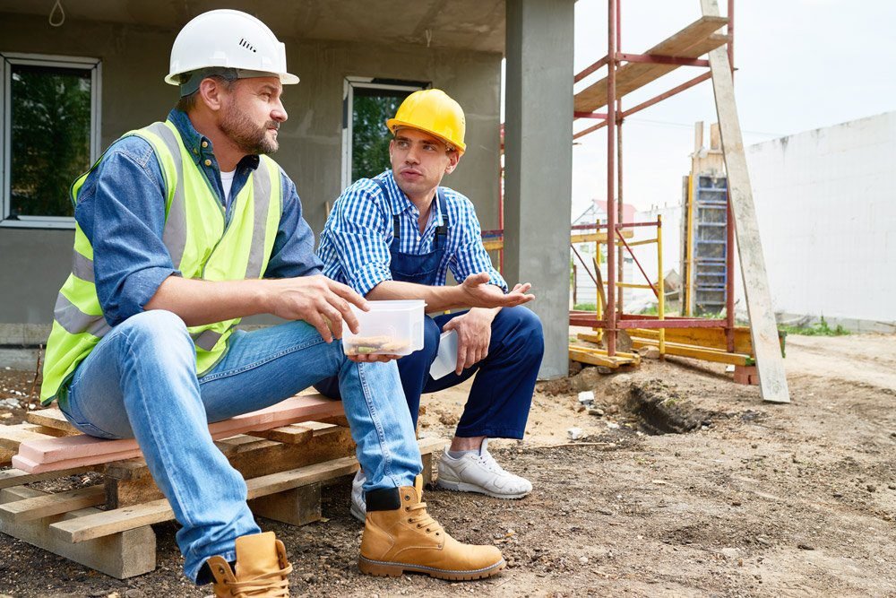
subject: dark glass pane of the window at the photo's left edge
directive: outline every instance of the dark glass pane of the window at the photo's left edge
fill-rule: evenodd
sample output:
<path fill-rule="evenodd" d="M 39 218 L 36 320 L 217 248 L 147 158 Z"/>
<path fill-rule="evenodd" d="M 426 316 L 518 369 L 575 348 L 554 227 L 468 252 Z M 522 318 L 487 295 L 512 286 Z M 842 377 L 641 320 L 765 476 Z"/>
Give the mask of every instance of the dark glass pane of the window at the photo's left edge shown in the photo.
<path fill-rule="evenodd" d="M 11 65 L 11 217 L 72 216 L 90 168 L 90 70 Z"/>

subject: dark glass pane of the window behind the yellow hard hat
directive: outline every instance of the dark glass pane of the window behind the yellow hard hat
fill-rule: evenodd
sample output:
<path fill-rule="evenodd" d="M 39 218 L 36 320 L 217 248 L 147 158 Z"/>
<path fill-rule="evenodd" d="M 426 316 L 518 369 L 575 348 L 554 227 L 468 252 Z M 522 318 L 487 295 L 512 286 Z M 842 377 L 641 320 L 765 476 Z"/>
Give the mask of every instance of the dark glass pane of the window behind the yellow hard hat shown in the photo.
<path fill-rule="evenodd" d="M 390 169 L 386 120 L 395 116 L 401 101 L 414 90 L 377 90 L 356 87 L 351 115 L 351 182 L 373 178 Z"/>

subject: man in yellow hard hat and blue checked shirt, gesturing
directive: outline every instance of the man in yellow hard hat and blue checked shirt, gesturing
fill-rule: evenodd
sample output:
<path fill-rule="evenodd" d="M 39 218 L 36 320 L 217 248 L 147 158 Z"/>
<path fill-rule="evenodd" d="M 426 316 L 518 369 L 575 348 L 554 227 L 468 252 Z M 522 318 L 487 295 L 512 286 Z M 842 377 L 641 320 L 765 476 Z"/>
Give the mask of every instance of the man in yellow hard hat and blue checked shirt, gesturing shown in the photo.
<path fill-rule="evenodd" d="M 461 106 L 444 91 L 416 91 L 386 121 L 392 169 L 349 186 L 333 205 L 318 255 L 323 273 L 366 299 L 424 299 L 426 343 L 398 361 L 401 386 L 417 425 L 420 394 L 473 377 L 450 447 L 439 461 L 440 487 L 495 498 L 522 498 L 530 481 L 504 471 L 488 438 L 522 438 L 544 353 L 538 316 L 522 304 L 530 284 L 507 283 L 491 264 L 470 200 L 442 178 L 466 149 Z M 456 286 L 445 286 L 448 270 Z M 464 311 L 445 315 L 446 309 Z M 429 370 L 444 333 L 457 334 L 457 366 L 435 379 Z M 338 381 L 316 387 L 338 395 Z M 363 519 L 366 472 L 358 472 L 352 514 Z M 369 498 L 368 498 L 369 506 Z"/>

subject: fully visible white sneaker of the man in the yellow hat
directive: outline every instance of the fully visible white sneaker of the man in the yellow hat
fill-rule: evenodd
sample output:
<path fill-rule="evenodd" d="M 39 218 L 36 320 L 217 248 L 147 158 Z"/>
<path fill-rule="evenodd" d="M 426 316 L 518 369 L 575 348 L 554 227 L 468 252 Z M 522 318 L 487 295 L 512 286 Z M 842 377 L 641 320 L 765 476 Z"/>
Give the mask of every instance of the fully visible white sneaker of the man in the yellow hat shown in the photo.
<path fill-rule="evenodd" d="M 444 455 L 439 460 L 438 486 L 446 490 L 478 492 L 494 498 L 522 498 L 532 491 L 532 482 L 505 472 L 488 453 L 488 438 L 482 441 L 479 453 L 467 453 L 455 459 Z"/>

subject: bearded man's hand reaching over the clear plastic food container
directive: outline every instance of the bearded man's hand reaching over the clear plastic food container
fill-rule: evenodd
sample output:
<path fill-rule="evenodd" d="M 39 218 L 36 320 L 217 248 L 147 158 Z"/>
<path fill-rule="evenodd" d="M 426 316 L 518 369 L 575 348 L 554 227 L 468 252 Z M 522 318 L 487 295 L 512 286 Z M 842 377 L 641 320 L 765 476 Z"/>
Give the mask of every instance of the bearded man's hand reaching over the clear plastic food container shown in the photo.
<path fill-rule="evenodd" d="M 287 320 L 305 320 L 326 342 L 342 338 L 343 321 L 358 334 L 358 318 L 349 303 L 364 311 L 369 309 L 366 299 L 349 286 L 320 274 L 266 282 L 265 310 Z"/>

